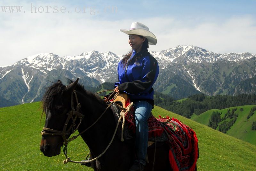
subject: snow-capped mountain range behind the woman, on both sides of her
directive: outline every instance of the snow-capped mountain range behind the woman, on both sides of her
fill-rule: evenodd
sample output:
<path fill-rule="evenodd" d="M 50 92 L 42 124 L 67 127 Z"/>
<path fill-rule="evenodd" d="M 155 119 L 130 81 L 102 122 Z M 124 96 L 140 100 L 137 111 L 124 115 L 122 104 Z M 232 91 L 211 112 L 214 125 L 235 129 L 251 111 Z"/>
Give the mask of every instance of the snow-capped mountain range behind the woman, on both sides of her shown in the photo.
<path fill-rule="evenodd" d="M 150 53 L 160 66 L 160 74 L 155 84 L 156 91 L 171 94 L 175 98 L 200 91 L 209 95 L 221 94 L 223 89 L 228 89 L 228 77 L 233 78 L 239 71 L 239 74 L 243 75 L 241 81 L 244 81 L 254 77 L 256 73 L 253 69 L 256 54 L 248 52 L 217 54 L 192 45 L 179 45 Z M 90 51 L 63 57 L 53 53 L 40 53 L 24 58 L 12 66 L 2 66 L 0 107 L 41 100 L 45 87 L 58 79 L 65 82 L 65 77 L 79 77 L 80 83 L 90 87 L 103 82 L 115 82 L 118 79 L 116 68 L 121 58 L 109 51 Z M 243 68 L 241 73 L 240 66 L 250 67 L 249 70 Z M 239 82 L 235 80 L 237 85 Z M 234 80 L 230 81 L 234 83 Z M 226 87 L 222 88 L 222 85 Z M 233 90 L 229 94 L 232 92 Z"/>

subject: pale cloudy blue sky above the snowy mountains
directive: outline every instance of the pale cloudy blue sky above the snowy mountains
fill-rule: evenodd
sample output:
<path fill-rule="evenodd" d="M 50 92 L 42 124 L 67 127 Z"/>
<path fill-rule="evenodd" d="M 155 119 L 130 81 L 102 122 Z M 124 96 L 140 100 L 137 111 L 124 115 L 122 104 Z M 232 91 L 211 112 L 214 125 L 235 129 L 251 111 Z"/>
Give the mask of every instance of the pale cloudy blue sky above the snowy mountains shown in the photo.
<path fill-rule="evenodd" d="M 8 6 L 20 8 L 10 12 Z M 256 53 L 255 8 L 255 0 L 0 0 L 0 66 L 47 52 L 125 54 L 128 35 L 119 29 L 135 21 L 157 37 L 149 51 L 192 44 L 216 53 Z"/>

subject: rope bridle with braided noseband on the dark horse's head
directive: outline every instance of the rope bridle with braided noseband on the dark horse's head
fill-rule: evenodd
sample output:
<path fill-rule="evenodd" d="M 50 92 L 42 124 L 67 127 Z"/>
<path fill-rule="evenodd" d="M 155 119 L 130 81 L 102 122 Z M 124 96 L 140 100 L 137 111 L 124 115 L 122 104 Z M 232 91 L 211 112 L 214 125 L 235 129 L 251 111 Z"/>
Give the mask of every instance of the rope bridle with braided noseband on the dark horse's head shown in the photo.
<path fill-rule="evenodd" d="M 74 108 L 74 94 L 75 94 L 75 97 L 76 97 L 76 104 L 77 104 L 76 109 Z M 62 131 L 58 131 L 58 130 L 55 130 L 55 129 L 44 127 L 43 130 L 41 131 L 41 135 L 42 136 L 62 136 L 62 138 L 64 140 L 64 144 L 68 144 L 69 140 L 66 138 L 66 136 L 69 135 L 69 131 L 72 129 L 71 134 L 75 133 L 77 128 L 81 124 L 82 119 L 84 118 L 84 115 L 79 112 L 80 107 L 81 107 L 81 105 L 78 102 L 78 98 L 77 98 L 77 95 L 76 95 L 76 90 L 73 90 L 73 92 L 71 94 L 71 110 L 68 111 L 68 113 L 67 113 L 68 117 L 67 117 L 67 120 L 64 124 L 64 127 L 63 127 Z M 79 118 L 80 121 L 79 121 L 79 124 L 76 126 L 75 122 L 76 122 L 77 118 Z M 69 122 L 70 119 L 72 119 L 72 124 L 67 129 L 68 122 Z M 75 128 L 75 129 L 73 129 L 73 128 Z M 44 131 L 48 131 L 48 132 L 44 132 Z"/>

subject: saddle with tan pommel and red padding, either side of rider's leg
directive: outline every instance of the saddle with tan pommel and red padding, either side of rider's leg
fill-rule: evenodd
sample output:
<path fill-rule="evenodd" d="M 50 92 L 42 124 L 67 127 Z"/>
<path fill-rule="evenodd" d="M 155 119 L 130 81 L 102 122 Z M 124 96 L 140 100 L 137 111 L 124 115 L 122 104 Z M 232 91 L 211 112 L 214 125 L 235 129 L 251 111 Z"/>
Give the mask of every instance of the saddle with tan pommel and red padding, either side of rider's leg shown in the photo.
<path fill-rule="evenodd" d="M 122 107 L 127 107 L 130 105 L 131 101 L 127 94 L 119 94 L 110 106 L 116 123 L 120 118 L 120 112 L 123 110 Z M 122 107 L 120 107 L 122 106 Z M 123 121 L 122 121 L 123 122 Z M 132 140 L 135 137 L 135 119 L 134 119 L 134 109 L 133 106 L 131 111 L 125 115 L 125 126 L 124 126 L 124 141 Z M 122 124 L 119 124 L 117 129 L 117 135 L 121 138 Z M 161 123 L 150 114 L 148 118 L 148 146 L 153 144 L 153 142 L 164 142 L 167 140 L 167 135 L 164 133 L 164 129 Z"/>

